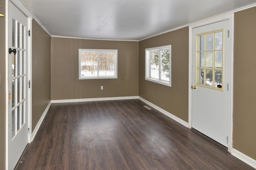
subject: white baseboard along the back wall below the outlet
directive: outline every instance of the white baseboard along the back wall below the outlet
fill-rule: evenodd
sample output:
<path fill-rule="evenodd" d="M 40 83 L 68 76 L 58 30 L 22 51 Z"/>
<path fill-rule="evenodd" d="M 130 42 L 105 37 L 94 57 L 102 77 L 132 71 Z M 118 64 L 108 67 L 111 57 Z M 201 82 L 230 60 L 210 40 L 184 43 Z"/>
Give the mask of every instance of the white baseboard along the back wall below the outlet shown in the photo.
<path fill-rule="evenodd" d="M 66 99 L 66 100 L 52 100 L 52 103 L 74 103 L 74 102 L 95 102 L 106 100 L 129 100 L 138 99 L 139 96 L 113 97 L 113 98 L 88 98 L 88 99 Z"/>

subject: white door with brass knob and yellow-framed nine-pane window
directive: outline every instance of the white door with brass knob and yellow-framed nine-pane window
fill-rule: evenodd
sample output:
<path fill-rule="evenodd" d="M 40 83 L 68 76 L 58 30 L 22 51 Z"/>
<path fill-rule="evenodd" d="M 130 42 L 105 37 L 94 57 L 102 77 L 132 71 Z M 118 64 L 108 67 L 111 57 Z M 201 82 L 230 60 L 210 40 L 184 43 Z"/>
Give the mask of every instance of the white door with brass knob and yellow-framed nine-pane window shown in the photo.
<path fill-rule="evenodd" d="M 192 128 L 228 146 L 229 20 L 192 30 Z"/>

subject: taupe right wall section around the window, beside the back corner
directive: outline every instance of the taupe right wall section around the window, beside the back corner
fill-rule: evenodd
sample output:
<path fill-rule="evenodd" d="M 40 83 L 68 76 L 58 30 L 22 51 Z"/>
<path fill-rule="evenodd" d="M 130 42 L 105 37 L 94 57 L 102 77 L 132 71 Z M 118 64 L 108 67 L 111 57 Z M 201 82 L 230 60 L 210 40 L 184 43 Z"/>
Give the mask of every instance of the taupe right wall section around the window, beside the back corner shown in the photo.
<path fill-rule="evenodd" d="M 139 96 L 188 122 L 188 27 L 140 41 Z M 145 80 L 145 49 L 172 45 L 172 87 Z"/>

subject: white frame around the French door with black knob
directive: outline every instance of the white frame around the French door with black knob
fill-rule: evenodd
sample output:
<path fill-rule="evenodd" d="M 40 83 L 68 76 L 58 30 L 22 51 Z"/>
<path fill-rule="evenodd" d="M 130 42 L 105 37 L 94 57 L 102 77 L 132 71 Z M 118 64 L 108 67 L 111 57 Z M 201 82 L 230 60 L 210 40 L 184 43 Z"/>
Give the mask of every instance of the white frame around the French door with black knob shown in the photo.
<path fill-rule="evenodd" d="M 5 4 L 5 9 L 6 9 L 6 15 L 5 15 L 5 46 L 6 46 L 6 146 L 5 146 L 5 152 L 6 152 L 6 156 L 5 156 L 5 168 L 6 170 L 8 170 L 8 149 L 9 149 L 9 146 L 8 146 L 8 58 L 9 58 L 9 53 L 8 53 L 8 48 L 9 48 L 9 44 L 8 44 L 8 18 L 9 18 L 9 15 L 8 15 L 8 12 L 9 12 L 9 9 L 8 9 L 8 5 L 9 3 L 13 3 L 17 8 L 18 10 L 20 10 L 27 18 L 28 18 L 28 30 L 30 30 L 30 32 L 32 32 L 32 14 L 28 11 L 28 9 L 24 6 L 24 4 L 22 4 L 22 2 L 20 2 L 19 0 L 6 0 L 6 4 Z M 28 128 L 31 129 L 32 127 L 32 34 L 30 34 L 30 37 L 28 37 L 28 47 L 26 49 L 27 53 L 28 53 L 28 61 L 26 61 L 26 64 L 28 65 L 28 72 L 26 74 L 26 76 L 28 77 L 28 80 L 30 80 L 30 88 L 28 89 Z M 29 131 L 28 133 L 28 143 L 31 142 L 31 135 L 32 132 L 31 130 Z"/>

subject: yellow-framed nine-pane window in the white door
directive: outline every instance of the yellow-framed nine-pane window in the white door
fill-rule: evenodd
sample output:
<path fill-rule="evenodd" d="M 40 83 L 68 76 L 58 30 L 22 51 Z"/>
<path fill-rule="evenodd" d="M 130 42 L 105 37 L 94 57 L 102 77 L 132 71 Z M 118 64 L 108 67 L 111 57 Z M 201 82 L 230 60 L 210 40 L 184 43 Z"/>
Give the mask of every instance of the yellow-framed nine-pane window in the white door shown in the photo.
<path fill-rule="evenodd" d="M 196 35 L 196 85 L 216 90 L 222 88 L 223 29 Z"/>

